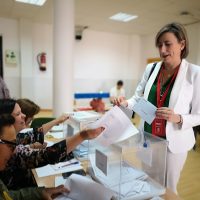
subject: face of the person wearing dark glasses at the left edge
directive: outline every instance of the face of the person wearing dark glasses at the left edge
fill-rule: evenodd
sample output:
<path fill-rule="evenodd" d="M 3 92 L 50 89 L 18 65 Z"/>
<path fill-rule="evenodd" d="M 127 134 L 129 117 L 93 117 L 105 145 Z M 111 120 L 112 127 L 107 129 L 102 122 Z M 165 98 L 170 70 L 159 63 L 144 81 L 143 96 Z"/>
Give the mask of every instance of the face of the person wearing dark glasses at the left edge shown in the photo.
<path fill-rule="evenodd" d="M 16 131 L 13 125 L 5 126 L 0 138 L 1 140 L 16 142 Z M 15 149 L 15 145 L 5 144 L 0 142 L 0 171 L 6 168 L 6 164 L 12 156 Z"/>

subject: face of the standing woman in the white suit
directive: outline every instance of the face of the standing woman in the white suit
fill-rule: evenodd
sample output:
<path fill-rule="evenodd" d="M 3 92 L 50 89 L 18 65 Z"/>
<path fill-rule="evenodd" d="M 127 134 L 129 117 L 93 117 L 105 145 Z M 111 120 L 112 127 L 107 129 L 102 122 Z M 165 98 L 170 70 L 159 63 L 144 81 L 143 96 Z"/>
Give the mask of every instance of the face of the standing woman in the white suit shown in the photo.
<path fill-rule="evenodd" d="M 158 42 L 160 57 L 165 66 L 176 67 L 181 61 L 181 51 L 185 47 L 185 41 L 179 42 L 174 33 L 164 33 Z"/>

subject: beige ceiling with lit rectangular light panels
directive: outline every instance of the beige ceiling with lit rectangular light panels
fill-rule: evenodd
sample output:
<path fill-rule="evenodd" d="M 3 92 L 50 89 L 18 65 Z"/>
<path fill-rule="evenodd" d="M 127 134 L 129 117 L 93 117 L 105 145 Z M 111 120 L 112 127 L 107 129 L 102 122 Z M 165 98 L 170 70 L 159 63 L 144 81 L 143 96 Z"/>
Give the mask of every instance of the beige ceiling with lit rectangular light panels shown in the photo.
<path fill-rule="evenodd" d="M 52 23 L 53 1 L 42 7 L 0 0 L 0 17 L 33 22 Z M 116 22 L 110 16 L 126 12 L 138 15 L 130 22 Z M 187 12 L 186 14 L 181 14 Z M 199 0 L 75 0 L 75 24 L 88 29 L 123 34 L 152 34 L 166 23 L 176 21 L 185 25 L 200 22 Z"/>

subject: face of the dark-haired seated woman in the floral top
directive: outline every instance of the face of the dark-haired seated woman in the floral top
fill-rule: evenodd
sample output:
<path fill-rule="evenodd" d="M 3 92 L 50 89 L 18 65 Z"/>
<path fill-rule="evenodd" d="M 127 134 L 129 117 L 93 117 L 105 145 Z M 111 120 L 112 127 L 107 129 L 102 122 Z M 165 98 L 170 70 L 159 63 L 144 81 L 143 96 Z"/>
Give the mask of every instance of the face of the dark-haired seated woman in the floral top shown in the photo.
<path fill-rule="evenodd" d="M 14 110 L 11 113 L 11 115 L 15 118 L 14 127 L 17 133 L 26 128 L 25 124 L 26 115 L 24 115 L 21 112 L 21 108 L 19 107 L 18 103 L 15 104 Z"/>

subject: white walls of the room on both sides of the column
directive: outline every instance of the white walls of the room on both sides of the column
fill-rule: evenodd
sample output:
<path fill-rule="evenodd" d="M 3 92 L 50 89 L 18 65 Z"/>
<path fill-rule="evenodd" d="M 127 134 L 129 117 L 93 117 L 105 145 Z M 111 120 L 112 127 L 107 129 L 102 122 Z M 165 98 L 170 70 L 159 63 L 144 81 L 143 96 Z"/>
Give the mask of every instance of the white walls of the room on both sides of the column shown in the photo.
<path fill-rule="evenodd" d="M 188 60 L 200 65 L 200 23 L 188 26 L 187 31 L 190 40 Z M 3 35 L 3 52 L 11 49 L 18 55 L 17 65 L 6 64 L 4 60 L 4 77 L 11 95 L 31 98 L 42 108 L 51 109 L 52 25 L 0 18 L 0 34 Z M 82 40 L 75 41 L 75 92 L 109 91 L 122 79 L 127 97 L 130 97 L 147 58 L 159 56 L 154 37 L 155 34 L 130 36 L 85 30 Z M 43 51 L 47 53 L 46 72 L 39 70 L 36 61 L 37 54 Z"/>

